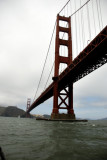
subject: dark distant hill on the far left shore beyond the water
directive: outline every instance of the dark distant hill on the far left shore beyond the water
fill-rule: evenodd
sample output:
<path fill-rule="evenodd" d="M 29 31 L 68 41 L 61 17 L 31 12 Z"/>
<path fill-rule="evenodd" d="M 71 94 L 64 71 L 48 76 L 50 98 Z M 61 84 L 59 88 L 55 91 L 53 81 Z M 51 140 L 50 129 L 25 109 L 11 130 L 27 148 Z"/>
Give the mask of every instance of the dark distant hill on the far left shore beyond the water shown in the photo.
<path fill-rule="evenodd" d="M 26 117 L 26 112 L 16 106 L 0 107 L 0 116 L 4 117 Z M 29 114 L 29 116 L 31 116 Z"/>

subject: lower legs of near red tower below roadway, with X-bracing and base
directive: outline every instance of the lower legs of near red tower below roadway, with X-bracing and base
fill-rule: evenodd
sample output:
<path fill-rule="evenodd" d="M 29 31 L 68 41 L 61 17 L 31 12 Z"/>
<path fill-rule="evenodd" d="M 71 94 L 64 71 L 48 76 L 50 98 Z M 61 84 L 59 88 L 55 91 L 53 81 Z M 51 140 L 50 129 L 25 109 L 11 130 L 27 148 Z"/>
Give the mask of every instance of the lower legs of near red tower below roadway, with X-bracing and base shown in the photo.
<path fill-rule="evenodd" d="M 73 110 L 73 83 L 70 84 L 67 89 L 63 91 L 54 90 L 55 95 L 53 99 L 53 111 L 51 114 L 51 119 L 75 119 L 75 114 Z M 62 107 L 63 105 L 63 107 Z M 60 109 L 67 110 L 67 114 L 59 113 Z"/>

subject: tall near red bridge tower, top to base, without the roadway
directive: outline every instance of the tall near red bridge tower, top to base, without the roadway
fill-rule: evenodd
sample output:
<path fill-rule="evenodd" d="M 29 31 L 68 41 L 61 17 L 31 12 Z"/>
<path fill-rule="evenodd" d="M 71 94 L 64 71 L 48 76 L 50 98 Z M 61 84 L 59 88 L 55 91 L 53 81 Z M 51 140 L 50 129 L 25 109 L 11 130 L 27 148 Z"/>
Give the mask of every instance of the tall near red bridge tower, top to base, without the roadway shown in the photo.
<path fill-rule="evenodd" d="M 65 22 L 68 27 L 61 27 L 59 22 Z M 60 32 L 68 34 L 68 40 L 60 39 Z M 60 55 L 60 47 L 66 46 L 68 50 L 67 57 Z M 60 63 L 69 64 L 72 63 L 72 37 L 71 37 L 71 17 L 62 17 L 57 15 L 57 26 L 56 26 L 56 41 L 55 41 L 55 69 L 54 69 L 54 93 L 53 93 L 53 111 L 51 119 L 75 119 L 73 110 L 73 83 L 71 82 L 68 86 L 64 87 L 63 90 L 59 90 L 58 87 L 58 76 Z M 62 84 L 63 85 L 63 84 Z M 62 106 L 63 105 L 63 106 Z M 67 110 L 67 114 L 60 114 L 59 110 Z"/>

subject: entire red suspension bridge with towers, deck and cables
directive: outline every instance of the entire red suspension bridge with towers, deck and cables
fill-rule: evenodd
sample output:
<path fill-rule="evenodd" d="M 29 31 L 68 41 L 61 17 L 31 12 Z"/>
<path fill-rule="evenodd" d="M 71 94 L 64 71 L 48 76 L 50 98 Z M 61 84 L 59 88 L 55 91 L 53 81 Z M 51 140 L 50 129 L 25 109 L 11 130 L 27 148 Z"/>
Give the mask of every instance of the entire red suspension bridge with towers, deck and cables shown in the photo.
<path fill-rule="evenodd" d="M 52 62 L 49 56 L 53 52 Z M 73 84 L 105 63 L 107 26 L 103 24 L 100 0 L 85 3 L 69 0 L 57 14 L 34 101 L 30 105 L 28 99 L 26 112 L 29 113 L 53 96 L 51 119 L 75 119 Z M 49 75 L 44 73 L 45 68 L 46 72 L 50 71 Z M 43 74 L 48 79 L 44 91 L 37 96 L 44 80 Z M 67 110 L 64 117 L 59 113 L 61 109 Z"/>

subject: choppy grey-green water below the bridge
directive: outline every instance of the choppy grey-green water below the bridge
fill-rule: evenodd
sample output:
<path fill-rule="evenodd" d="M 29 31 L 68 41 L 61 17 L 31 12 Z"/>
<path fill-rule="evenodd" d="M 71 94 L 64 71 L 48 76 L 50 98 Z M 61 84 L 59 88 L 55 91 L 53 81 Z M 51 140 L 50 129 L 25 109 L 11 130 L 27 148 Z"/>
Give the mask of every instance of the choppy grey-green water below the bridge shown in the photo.
<path fill-rule="evenodd" d="M 6 160 L 107 160 L 107 121 L 0 117 L 0 146 Z"/>

